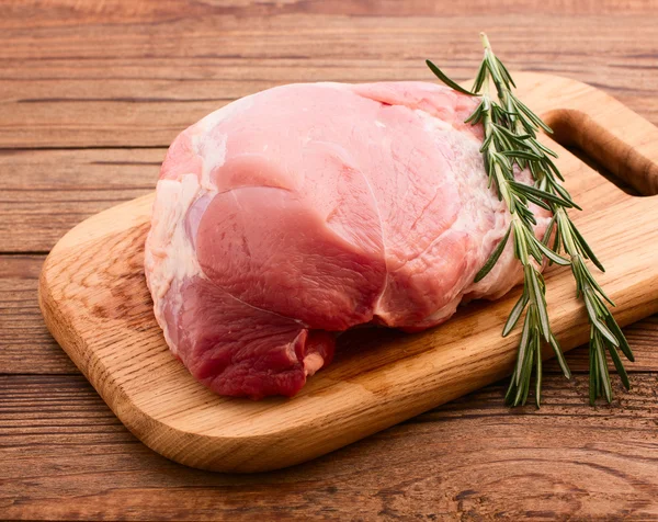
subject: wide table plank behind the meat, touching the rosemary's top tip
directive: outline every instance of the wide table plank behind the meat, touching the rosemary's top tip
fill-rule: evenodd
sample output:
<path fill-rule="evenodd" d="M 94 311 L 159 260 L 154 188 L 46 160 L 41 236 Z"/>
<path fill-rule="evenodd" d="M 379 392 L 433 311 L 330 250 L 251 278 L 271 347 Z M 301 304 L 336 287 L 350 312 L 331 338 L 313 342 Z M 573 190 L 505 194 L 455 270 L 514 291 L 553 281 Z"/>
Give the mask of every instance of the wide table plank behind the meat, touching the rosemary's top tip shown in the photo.
<path fill-rule="evenodd" d="M 253 8 L 258 2 L 245 2 L 249 9 L 236 16 L 194 2 L 179 16 L 146 10 L 106 23 L 114 3 L 91 10 L 80 8 L 84 3 L 59 3 L 68 5 L 60 12 L 80 18 L 76 25 L 44 23 L 32 3 L 15 8 L 26 22 L 7 31 L 0 47 L 9 80 L 0 148 L 167 146 L 182 128 L 243 94 L 291 81 L 431 80 L 428 57 L 465 79 L 481 56 L 481 30 L 510 68 L 590 82 L 658 122 L 658 107 L 646 101 L 655 92 L 658 55 L 647 52 L 655 20 L 642 9 L 625 11 L 626 23 L 619 24 L 590 11 L 465 15 L 456 3 L 441 16 L 318 18 L 305 8 L 263 16 Z M 280 72 L 271 76 L 273 69 Z"/>

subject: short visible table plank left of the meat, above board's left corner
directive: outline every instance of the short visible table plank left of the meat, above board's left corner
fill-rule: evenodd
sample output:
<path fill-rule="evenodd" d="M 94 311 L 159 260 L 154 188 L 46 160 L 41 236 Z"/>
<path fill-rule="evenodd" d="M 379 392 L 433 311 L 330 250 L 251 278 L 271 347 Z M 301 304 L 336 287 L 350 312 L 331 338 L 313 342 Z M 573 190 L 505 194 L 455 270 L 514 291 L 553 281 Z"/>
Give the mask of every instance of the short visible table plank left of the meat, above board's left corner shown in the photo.
<path fill-rule="evenodd" d="M 0 250 L 47 252 L 78 223 L 151 192 L 166 149 L 0 150 Z"/>

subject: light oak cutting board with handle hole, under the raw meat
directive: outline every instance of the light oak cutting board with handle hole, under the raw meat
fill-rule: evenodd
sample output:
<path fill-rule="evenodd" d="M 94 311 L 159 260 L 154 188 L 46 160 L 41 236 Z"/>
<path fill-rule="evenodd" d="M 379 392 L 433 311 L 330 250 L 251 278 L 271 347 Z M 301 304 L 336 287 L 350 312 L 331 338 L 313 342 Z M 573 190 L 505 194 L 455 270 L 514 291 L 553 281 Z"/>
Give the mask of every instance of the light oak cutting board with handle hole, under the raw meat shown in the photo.
<path fill-rule="evenodd" d="M 561 144 L 587 151 L 640 193 L 658 193 L 658 128 L 583 83 L 515 77 L 521 98 Z M 617 304 L 615 317 L 627 325 L 658 311 L 658 198 L 627 195 L 552 146 L 560 154 L 569 191 L 585 208 L 572 213 L 575 222 L 608 268 L 599 280 Z M 447 324 L 418 334 L 348 332 L 336 361 L 293 399 L 218 397 L 170 354 L 154 318 L 143 270 L 152 201 L 149 195 L 116 206 L 67 234 L 44 265 L 39 303 L 55 339 L 116 416 L 169 458 L 226 472 L 290 466 L 512 370 L 519 332 L 507 339 L 500 332 L 519 291 L 496 303 L 473 303 Z M 581 344 L 589 329 L 569 269 L 552 269 L 547 287 L 564 349 Z"/>

